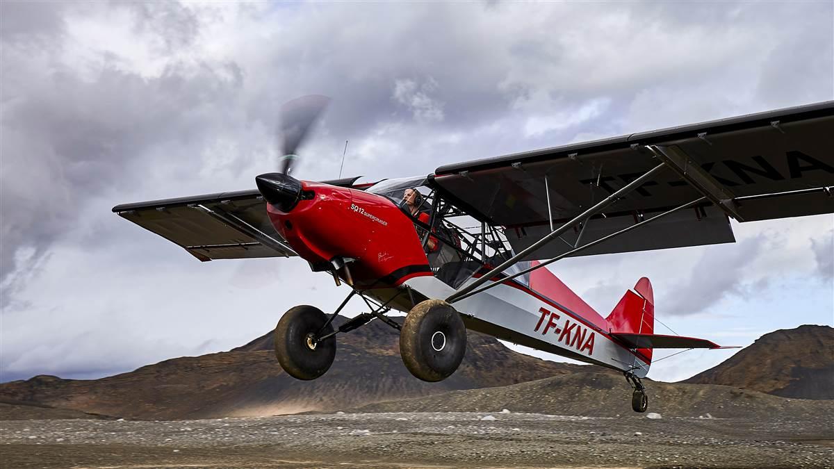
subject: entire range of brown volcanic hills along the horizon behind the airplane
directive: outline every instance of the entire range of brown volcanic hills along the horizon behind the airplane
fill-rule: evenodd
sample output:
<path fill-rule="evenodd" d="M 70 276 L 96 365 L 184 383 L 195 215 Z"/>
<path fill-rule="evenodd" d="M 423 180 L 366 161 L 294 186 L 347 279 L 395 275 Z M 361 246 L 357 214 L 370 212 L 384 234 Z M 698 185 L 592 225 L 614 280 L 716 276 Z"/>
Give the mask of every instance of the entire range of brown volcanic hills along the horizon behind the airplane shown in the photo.
<path fill-rule="evenodd" d="M 338 317 L 336 325 L 344 320 Z M 474 331 L 469 331 L 458 371 L 437 383 L 409 374 L 399 357 L 399 332 L 381 321 L 338 337 L 334 365 L 314 381 L 294 380 L 280 369 L 269 332 L 229 351 L 173 358 L 98 380 L 40 375 L 10 381 L 0 384 L 0 401 L 138 420 L 411 407 L 454 410 L 489 402 L 525 411 L 584 412 L 581 415 L 599 415 L 600 408 L 605 415 L 631 411 L 630 389 L 620 373 L 525 356 Z M 762 335 L 736 356 L 690 380 L 647 380 L 650 408 L 681 416 L 710 409 L 716 416 L 741 415 L 745 409 L 807 413 L 815 405 L 801 404 L 795 394 L 813 391 L 815 399 L 828 399 L 814 390 L 825 388 L 830 378 L 822 376 L 820 381 L 820 373 L 834 370 L 834 347 L 826 347 L 831 343 L 834 329 L 828 326 L 804 325 Z M 796 353 L 797 347 L 806 352 Z M 712 382 L 691 382 L 696 379 Z M 760 391 L 790 396 L 766 396 Z M 790 401 L 796 402 L 791 405 Z M 721 409 L 718 402 L 730 406 L 732 412 L 716 411 Z M 18 408 L 15 415 L 34 415 L 34 410 Z"/>

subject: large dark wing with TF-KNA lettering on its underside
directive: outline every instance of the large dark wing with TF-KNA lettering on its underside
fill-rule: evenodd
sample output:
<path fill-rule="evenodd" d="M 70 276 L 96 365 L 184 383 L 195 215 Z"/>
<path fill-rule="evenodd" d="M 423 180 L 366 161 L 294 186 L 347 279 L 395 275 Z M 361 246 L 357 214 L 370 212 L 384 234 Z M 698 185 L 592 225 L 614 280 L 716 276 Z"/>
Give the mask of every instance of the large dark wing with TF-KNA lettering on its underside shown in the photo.
<path fill-rule="evenodd" d="M 450 164 L 430 184 L 475 219 L 505 227 L 519 252 L 661 163 L 666 169 L 526 259 L 564 254 L 701 197 L 576 255 L 733 242 L 730 217 L 834 212 L 834 101 Z"/>

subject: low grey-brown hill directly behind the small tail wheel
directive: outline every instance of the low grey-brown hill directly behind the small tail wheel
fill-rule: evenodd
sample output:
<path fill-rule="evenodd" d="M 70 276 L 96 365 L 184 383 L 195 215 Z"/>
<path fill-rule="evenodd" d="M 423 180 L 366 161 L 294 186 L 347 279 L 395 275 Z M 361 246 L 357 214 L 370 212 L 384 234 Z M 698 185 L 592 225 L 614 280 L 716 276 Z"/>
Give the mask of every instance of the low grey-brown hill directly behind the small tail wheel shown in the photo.
<path fill-rule="evenodd" d="M 600 370 L 600 368 L 596 368 Z M 362 406 L 359 412 L 480 411 L 500 419 L 502 409 L 557 416 L 645 416 L 631 410 L 631 390 L 613 373 L 574 373 L 490 389 Z M 644 381 L 649 411 L 664 418 L 826 418 L 834 401 L 786 399 L 730 386 Z"/>

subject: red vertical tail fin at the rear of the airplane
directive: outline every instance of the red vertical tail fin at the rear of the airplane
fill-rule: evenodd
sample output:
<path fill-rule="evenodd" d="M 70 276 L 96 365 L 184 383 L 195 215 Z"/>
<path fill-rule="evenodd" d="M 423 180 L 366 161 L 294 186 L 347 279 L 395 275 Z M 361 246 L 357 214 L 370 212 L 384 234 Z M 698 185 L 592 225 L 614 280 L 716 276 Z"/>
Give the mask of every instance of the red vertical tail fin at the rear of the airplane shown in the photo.
<path fill-rule="evenodd" d="M 634 285 L 634 291 L 626 291 L 605 320 L 612 333 L 654 334 L 655 295 L 649 279 L 641 278 Z M 651 362 L 651 349 L 637 351 Z"/>

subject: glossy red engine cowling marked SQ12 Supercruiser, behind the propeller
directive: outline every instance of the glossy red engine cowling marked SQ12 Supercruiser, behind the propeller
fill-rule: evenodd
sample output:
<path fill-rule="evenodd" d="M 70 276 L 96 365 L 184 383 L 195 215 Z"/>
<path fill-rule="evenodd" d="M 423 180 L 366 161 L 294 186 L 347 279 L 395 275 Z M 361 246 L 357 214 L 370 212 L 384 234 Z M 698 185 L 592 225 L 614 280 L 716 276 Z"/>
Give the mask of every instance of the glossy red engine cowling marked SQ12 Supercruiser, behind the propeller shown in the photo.
<path fill-rule="evenodd" d="M 273 174 L 259 178 L 267 176 Z M 259 189 L 275 229 L 304 260 L 325 265 L 354 259 L 348 268 L 357 288 L 396 286 L 432 275 L 414 223 L 390 199 L 329 184 L 288 183 L 289 176 L 279 176 L 284 178 L 281 194 L 270 197 L 273 189 L 260 179 Z"/>

